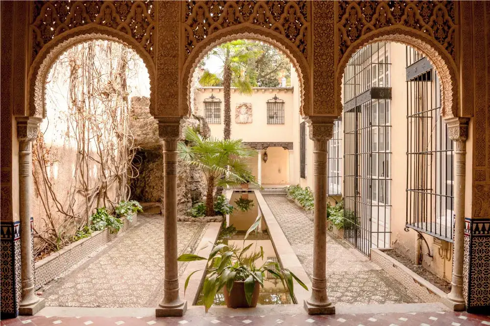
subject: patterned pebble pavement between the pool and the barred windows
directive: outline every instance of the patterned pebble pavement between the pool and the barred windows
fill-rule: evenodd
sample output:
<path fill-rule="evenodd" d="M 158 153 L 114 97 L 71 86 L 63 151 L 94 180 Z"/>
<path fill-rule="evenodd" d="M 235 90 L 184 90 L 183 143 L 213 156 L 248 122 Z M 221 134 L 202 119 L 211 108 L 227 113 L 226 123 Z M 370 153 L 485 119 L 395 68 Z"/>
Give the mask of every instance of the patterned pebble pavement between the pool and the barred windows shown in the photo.
<path fill-rule="evenodd" d="M 313 273 L 313 222 L 284 195 L 263 195 L 308 276 Z M 368 257 L 327 233 L 328 296 L 335 305 L 420 302 Z"/>

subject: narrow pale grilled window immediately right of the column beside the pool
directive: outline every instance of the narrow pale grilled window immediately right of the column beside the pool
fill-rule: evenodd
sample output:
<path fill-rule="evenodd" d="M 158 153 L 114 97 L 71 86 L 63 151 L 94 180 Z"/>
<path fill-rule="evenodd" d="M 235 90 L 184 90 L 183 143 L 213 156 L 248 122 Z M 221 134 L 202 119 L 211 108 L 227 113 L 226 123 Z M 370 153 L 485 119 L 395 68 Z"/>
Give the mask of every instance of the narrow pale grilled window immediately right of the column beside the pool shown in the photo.
<path fill-rule="evenodd" d="M 332 139 L 328 141 L 328 195 L 335 196 L 341 194 L 341 142 L 340 132 L 342 118 L 334 122 Z"/>

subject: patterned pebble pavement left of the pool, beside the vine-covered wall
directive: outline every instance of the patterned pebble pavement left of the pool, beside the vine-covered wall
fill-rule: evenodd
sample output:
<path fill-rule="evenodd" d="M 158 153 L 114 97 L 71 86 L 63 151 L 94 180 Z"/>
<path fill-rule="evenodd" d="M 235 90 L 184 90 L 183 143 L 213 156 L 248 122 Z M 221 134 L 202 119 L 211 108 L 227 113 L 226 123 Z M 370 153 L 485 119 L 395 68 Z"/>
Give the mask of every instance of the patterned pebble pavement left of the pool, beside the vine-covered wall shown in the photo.
<path fill-rule="evenodd" d="M 194 251 L 206 227 L 177 223 L 179 254 Z M 43 287 L 42 298 L 50 306 L 157 306 L 163 296 L 164 241 L 163 217 L 138 215 L 136 226 Z M 185 264 L 179 263 L 179 276 Z"/>

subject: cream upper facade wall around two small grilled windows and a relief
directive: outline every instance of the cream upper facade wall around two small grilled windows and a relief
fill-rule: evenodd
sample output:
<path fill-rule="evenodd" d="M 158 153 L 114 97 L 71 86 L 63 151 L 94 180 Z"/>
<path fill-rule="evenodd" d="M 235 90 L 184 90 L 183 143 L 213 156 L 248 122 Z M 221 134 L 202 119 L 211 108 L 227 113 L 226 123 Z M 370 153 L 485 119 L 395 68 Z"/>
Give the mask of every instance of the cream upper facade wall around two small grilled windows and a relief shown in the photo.
<path fill-rule="evenodd" d="M 293 79 L 293 78 L 292 78 Z M 221 124 L 210 124 L 211 135 L 223 137 L 223 88 L 200 87 L 196 90 L 197 114 L 204 116 L 204 99 L 213 94 L 221 99 Z M 267 124 L 267 100 L 277 95 L 284 100 L 284 125 Z M 294 87 L 254 88 L 251 96 L 240 95 L 235 89 L 231 90 L 231 138 L 243 139 L 245 142 L 292 142 L 293 133 L 293 98 L 297 97 Z M 252 104 L 252 123 L 237 124 L 235 108 L 239 103 Z"/>

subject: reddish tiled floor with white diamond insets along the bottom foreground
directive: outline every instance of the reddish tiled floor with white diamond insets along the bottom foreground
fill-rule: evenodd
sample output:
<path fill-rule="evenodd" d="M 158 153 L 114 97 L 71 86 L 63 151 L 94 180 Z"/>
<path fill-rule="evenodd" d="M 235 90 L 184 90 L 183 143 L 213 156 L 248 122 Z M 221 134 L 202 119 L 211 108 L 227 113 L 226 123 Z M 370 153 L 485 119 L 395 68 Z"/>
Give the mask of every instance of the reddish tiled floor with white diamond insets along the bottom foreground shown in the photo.
<path fill-rule="evenodd" d="M 488 316 L 455 312 L 391 313 L 331 316 L 246 317 L 19 317 L 1 321 L 1 326 L 488 326 Z"/>

